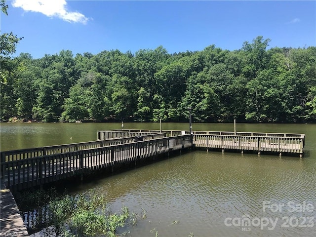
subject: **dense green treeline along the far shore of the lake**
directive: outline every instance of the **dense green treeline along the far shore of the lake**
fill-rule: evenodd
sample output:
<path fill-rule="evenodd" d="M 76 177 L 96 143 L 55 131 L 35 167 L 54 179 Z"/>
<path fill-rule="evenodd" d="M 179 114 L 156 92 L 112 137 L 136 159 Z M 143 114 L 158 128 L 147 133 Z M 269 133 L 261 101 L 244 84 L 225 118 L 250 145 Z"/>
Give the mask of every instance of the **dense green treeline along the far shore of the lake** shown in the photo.
<path fill-rule="evenodd" d="M 271 48 L 257 37 L 229 51 L 162 46 L 29 53 L 1 62 L 1 120 L 315 122 L 316 47 Z"/>

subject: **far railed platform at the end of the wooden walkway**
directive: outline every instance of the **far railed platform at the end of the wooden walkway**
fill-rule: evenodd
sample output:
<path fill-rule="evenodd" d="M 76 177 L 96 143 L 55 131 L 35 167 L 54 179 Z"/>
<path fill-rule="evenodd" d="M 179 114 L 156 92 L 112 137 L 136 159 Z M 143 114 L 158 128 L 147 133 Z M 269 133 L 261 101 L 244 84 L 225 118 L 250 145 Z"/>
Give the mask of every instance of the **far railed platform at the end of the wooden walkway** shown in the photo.
<path fill-rule="evenodd" d="M 117 132 L 160 132 L 159 130 L 116 130 Z M 109 131 L 98 131 L 98 139 L 107 136 Z M 162 130 L 167 137 L 190 134 L 189 131 Z M 304 153 L 305 134 L 294 133 L 259 133 L 259 132 L 222 132 L 222 131 L 193 131 L 193 143 L 197 149 L 227 151 L 255 151 L 298 154 Z"/>

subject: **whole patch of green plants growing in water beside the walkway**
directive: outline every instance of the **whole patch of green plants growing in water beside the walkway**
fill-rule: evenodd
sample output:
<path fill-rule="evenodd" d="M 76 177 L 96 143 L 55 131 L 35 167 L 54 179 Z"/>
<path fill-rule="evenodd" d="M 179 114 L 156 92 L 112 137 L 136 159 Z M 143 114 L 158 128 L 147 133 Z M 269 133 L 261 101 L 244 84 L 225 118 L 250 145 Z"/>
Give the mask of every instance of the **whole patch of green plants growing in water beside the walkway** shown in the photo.
<path fill-rule="evenodd" d="M 123 206 L 120 213 L 113 213 L 107 206 L 106 198 L 93 193 L 61 196 L 54 188 L 47 191 L 35 190 L 16 194 L 20 208 L 33 209 L 36 219 L 32 220 L 29 231 L 42 230 L 44 236 L 117 236 L 118 228 L 125 224 L 136 225 L 139 215 L 130 213 Z M 142 219 L 146 218 L 142 209 Z M 126 235 L 127 232 L 122 233 Z"/>

